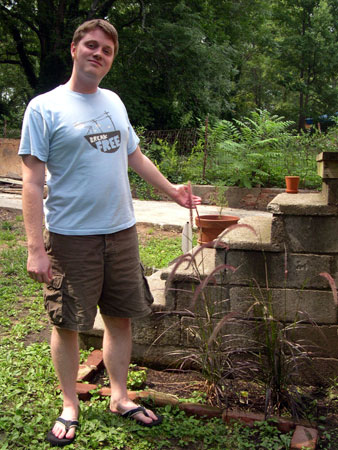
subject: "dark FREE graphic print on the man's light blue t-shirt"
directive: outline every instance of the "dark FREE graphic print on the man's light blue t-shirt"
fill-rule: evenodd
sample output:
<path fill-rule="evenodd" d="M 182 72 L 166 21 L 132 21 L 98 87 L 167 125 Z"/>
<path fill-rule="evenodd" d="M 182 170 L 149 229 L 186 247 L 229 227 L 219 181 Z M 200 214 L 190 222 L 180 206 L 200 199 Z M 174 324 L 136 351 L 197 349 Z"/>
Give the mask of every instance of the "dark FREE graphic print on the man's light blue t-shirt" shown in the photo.
<path fill-rule="evenodd" d="M 96 150 L 100 150 L 103 153 L 114 153 L 120 148 L 121 132 L 116 130 L 114 122 L 107 111 L 95 119 L 76 122 L 74 127 L 88 128 L 84 137 Z"/>

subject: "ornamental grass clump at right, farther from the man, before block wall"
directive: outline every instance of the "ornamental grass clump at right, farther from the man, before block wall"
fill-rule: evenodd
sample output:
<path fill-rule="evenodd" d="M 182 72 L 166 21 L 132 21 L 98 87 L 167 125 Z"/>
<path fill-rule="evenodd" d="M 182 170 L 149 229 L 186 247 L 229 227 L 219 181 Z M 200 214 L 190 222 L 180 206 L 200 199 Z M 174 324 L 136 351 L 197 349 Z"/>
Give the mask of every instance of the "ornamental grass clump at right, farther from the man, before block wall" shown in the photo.
<path fill-rule="evenodd" d="M 265 271 L 267 273 L 267 267 Z M 285 257 L 285 283 L 287 274 Z M 332 276 L 328 273 L 320 275 L 328 280 L 338 305 L 337 288 Z M 315 375 L 318 379 L 319 374 L 314 367 L 318 346 L 310 340 L 299 339 L 297 333 L 308 324 L 316 327 L 319 332 L 320 328 L 307 313 L 299 309 L 291 322 L 285 317 L 279 317 L 275 313 L 273 293 L 269 289 L 267 277 L 265 289 L 255 280 L 253 282 L 253 303 L 249 311 L 252 310 L 254 317 L 258 319 L 257 341 L 253 353 L 256 354 L 257 364 L 255 376 L 265 389 L 265 416 L 288 412 L 295 420 L 299 420 L 306 416 L 308 402 L 299 389 L 300 379 L 303 379 L 304 374 L 310 376 L 310 379 L 311 375 Z M 286 294 L 286 286 L 284 292 Z M 286 311 L 286 297 L 284 302 Z"/>

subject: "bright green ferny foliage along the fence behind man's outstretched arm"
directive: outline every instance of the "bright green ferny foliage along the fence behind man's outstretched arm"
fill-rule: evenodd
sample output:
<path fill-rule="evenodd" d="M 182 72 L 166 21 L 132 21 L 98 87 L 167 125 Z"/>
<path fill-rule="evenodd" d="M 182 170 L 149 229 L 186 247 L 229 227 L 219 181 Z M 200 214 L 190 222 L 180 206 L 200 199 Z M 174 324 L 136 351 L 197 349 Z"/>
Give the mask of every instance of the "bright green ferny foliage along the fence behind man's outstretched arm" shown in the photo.
<path fill-rule="evenodd" d="M 180 154 L 177 143 L 158 140 L 147 145 L 142 129 L 138 131 L 145 154 L 173 183 L 284 188 L 286 175 L 298 175 L 301 188 L 320 189 L 316 156 L 338 150 L 338 127 L 326 134 L 315 130 L 297 134 L 293 124 L 266 110 L 242 120 L 216 121 L 208 128 L 207 146 L 201 127 L 200 139 L 187 155 Z M 137 174 L 130 171 L 129 178 L 139 198 L 158 198 Z"/>

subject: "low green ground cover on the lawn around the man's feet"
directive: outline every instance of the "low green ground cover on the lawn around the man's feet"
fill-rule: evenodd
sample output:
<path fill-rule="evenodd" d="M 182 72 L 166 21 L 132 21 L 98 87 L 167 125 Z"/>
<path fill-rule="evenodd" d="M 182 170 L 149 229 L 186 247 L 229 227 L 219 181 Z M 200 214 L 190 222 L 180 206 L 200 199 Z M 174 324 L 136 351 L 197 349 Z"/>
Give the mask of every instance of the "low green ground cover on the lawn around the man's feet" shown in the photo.
<path fill-rule="evenodd" d="M 41 286 L 25 271 L 22 218 L 0 223 L 0 448 L 46 450 L 45 435 L 62 399 L 45 334 Z M 82 352 L 81 359 L 87 355 Z M 108 402 L 94 394 L 81 403 L 81 425 L 70 450 L 282 450 L 290 441 L 266 423 L 254 429 L 226 426 L 220 419 L 203 421 L 169 406 L 158 410 L 163 425 L 142 428 L 110 414 Z"/>

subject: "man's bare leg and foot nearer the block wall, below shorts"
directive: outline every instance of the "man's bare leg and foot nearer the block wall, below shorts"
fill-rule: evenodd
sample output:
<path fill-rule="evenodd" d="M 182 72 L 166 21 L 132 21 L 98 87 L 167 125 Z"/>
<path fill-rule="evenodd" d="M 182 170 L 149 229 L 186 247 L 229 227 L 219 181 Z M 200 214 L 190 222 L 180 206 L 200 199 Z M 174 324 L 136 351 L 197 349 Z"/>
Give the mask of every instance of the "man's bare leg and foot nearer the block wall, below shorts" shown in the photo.
<path fill-rule="evenodd" d="M 103 360 L 108 371 L 111 400 L 110 410 L 123 414 L 126 411 L 137 408 L 131 401 L 127 392 L 127 375 L 131 357 L 131 321 L 119 317 L 102 315 L 105 325 L 103 337 Z M 138 413 L 134 417 L 145 423 L 156 420 L 156 415 L 147 410 L 149 417 Z"/>

